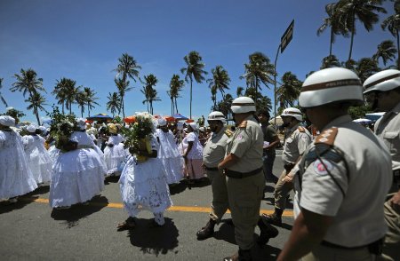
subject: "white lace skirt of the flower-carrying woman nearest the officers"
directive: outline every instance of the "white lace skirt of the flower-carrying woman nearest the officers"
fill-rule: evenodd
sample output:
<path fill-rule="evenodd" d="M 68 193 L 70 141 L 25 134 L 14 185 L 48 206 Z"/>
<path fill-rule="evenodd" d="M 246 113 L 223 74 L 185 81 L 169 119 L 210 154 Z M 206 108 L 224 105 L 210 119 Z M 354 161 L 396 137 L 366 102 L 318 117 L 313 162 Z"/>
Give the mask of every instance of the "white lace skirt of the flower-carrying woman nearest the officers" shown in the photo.
<path fill-rule="evenodd" d="M 153 138 L 153 149 L 156 149 L 156 143 Z M 162 213 L 172 206 L 164 166 L 158 158 L 136 163 L 133 156 L 129 157 L 119 184 L 124 209 L 131 217 L 136 217 L 140 210 Z"/>

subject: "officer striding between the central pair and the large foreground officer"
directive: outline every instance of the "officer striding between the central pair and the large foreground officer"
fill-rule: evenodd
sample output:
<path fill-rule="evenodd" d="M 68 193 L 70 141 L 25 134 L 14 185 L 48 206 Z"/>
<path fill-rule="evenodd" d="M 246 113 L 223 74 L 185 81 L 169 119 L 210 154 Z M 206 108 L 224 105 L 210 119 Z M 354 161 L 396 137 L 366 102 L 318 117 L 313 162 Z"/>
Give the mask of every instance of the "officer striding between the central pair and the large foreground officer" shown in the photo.
<path fill-rule="evenodd" d="M 284 138 L 284 151 L 282 161 L 284 162 L 284 171 L 281 174 L 275 186 L 275 210 L 272 215 L 263 215 L 262 218 L 272 225 L 282 225 L 282 214 L 286 207 L 286 200 L 293 188 L 292 173 L 295 163 L 304 153 L 307 146 L 311 143 L 312 137 L 309 131 L 300 126 L 303 121 L 303 115 L 300 109 L 289 107 L 284 109 L 281 115 L 286 128 Z"/>

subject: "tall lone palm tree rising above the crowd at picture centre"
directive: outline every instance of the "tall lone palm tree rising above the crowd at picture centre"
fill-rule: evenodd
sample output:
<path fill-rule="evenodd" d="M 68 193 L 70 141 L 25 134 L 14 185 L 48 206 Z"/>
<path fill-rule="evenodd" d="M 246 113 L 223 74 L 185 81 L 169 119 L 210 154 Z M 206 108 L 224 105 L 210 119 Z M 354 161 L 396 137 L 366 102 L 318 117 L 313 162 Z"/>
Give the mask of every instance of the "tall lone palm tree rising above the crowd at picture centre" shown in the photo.
<path fill-rule="evenodd" d="M 185 80 L 188 83 L 190 81 L 190 119 L 192 118 L 192 89 L 193 79 L 196 83 L 203 83 L 204 75 L 207 72 L 204 71 L 203 59 L 197 51 L 190 51 L 184 58 L 186 66 L 180 69 L 180 73 L 185 74 Z"/>

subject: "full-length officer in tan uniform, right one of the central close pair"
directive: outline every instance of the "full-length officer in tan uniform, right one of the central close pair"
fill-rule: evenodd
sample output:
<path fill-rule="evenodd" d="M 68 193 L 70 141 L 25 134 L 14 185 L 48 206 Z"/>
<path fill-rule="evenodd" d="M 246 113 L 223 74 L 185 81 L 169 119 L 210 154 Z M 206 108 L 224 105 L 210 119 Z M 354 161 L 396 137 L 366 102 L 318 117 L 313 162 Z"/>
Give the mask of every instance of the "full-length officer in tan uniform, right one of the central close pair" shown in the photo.
<path fill-rule="evenodd" d="M 218 169 L 228 177 L 228 203 L 239 251 L 224 260 L 252 260 L 250 249 L 254 244 L 255 225 L 260 225 L 260 244 L 276 237 L 277 230 L 260 220 L 260 203 L 265 185 L 262 171 L 263 134 L 253 116 L 256 110 L 254 101 L 239 97 L 233 100 L 230 108 L 236 130 L 228 138 L 226 156 L 218 164 Z"/>

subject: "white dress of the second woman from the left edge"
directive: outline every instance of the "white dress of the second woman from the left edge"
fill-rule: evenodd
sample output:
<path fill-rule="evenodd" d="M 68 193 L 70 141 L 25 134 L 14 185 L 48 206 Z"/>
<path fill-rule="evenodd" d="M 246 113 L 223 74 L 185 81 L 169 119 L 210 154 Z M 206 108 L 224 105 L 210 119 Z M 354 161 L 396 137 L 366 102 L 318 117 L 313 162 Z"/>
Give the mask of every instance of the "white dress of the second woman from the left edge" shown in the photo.
<path fill-rule="evenodd" d="M 52 159 L 44 147 L 44 141 L 39 135 L 22 137 L 28 165 L 37 184 L 48 182 L 52 177 Z"/>

